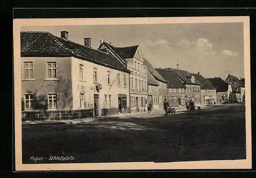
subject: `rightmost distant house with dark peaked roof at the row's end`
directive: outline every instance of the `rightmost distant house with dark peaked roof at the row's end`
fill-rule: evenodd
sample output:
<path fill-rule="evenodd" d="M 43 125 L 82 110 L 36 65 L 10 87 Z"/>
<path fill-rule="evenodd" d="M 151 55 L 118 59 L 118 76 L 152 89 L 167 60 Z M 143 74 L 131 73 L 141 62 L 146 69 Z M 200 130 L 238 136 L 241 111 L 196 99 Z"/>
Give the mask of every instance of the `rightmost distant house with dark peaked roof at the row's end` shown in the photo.
<path fill-rule="evenodd" d="M 228 74 L 226 80 L 227 83 L 232 86 L 233 101 L 234 102 L 244 102 L 245 101 L 245 83 L 242 79 L 238 79 L 232 74 Z"/>

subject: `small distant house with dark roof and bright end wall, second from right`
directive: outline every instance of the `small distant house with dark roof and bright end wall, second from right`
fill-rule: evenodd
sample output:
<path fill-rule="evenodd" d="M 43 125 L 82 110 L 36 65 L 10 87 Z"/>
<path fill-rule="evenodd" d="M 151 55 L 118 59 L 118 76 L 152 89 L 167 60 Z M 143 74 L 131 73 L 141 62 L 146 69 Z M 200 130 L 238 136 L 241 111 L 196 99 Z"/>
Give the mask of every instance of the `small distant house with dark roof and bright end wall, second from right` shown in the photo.
<path fill-rule="evenodd" d="M 220 77 L 206 78 L 217 89 L 218 103 L 231 102 L 232 87 Z"/>

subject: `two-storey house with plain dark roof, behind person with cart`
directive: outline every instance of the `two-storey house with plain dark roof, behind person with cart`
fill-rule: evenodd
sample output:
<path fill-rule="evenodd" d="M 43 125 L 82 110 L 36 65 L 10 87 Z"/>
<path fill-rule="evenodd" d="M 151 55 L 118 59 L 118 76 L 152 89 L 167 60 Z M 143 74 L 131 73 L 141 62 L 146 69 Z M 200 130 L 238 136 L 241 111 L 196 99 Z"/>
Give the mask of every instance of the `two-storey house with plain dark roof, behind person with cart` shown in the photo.
<path fill-rule="evenodd" d="M 168 81 L 167 101 L 172 107 L 185 106 L 186 86 L 182 83 L 178 75 L 169 69 L 156 69 L 157 72 Z"/>

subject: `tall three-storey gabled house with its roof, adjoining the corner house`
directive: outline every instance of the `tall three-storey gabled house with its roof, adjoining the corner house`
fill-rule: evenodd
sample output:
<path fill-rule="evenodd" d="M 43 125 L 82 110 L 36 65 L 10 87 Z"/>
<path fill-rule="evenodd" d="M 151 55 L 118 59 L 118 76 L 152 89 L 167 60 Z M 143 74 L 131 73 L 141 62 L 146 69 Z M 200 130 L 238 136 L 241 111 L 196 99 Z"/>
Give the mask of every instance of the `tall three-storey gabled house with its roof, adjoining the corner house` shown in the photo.
<path fill-rule="evenodd" d="M 98 50 L 104 51 L 117 59 L 126 62 L 130 73 L 131 113 L 143 112 L 147 108 L 147 68 L 144 65 L 142 52 L 138 45 L 114 47 L 102 41 Z"/>

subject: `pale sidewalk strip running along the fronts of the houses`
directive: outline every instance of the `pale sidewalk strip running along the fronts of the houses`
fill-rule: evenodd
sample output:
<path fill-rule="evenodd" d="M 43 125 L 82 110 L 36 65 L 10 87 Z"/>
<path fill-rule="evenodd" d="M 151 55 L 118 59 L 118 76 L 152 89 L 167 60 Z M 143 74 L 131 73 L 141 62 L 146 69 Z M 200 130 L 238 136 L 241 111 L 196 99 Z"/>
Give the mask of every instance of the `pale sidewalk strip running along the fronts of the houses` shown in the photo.
<path fill-rule="evenodd" d="M 212 107 L 212 106 L 201 106 L 201 108 L 206 108 L 206 107 Z M 186 107 L 173 107 L 176 109 L 176 113 L 183 113 L 186 111 Z M 152 110 L 153 113 L 159 112 L 160 110 L 163 110 L 163 108 L 157 108 Z M 146 114 L 147 111 L 145 112 L 138 112 L 138 113 L 127 113 L 127 114 L 117 114 L 117 115 L 111 115 L 111 116 L 99 116 L 99 117 L 92 117 L 92 118 L 83 118 L 83 119 L 70 119 L 70 120 L 45 120 L 45 121 L 23 121 L 22 125 L 48 125 L 48 124 L 78 124 L 78 123 L 91 123 L 96 120 L 101 120 L 101 119 L 109 119 L 109 118 L 116 118 L 116 117 L 126 117 L 126 116 L 136 116 L 136 115 L 141 115 L 141 114 Z M 147 117 L 147 116 L 145 116 Z M 155 117 L 155 116 L 152 116 Z M 143 117 L 142 117 L 143 118 Z"/>

